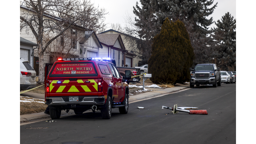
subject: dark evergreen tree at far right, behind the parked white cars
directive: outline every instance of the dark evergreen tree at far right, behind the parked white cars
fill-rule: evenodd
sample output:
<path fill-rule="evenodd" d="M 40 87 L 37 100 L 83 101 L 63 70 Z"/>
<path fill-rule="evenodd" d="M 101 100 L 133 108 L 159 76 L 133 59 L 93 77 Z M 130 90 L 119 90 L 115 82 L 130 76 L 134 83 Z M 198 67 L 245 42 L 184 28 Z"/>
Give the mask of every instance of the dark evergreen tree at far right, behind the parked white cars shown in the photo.
<path fill-rule="evenodd" d="M 218 52 L 214 61 L 221 70 L 228 71 L 228 66 L 236 66 L 236 19 L 228 12 L 215 24 L 214 38 Z"/>

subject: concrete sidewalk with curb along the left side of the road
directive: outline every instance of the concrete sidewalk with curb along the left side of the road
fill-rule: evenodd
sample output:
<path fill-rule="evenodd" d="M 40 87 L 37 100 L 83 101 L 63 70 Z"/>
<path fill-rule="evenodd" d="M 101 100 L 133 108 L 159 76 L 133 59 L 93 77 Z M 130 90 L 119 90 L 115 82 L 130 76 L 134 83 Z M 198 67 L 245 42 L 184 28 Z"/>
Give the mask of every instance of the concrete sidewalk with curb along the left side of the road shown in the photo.
<path fill-rule="evenodd" d="M 136 102 L 138 100 L 147 99 L 147 98 L 153 98 L 153 97 L 163 95 L 163 94 L 169 94 L 169 93 L 180 91 L 180 90 L 187 89 L 187 88 L 190 88 L 190 86 L 189 85 L 180 85 L 180 86 L 166 88 L 166 89 L 146 87 L 146 89 L 152 90 L 152 91 L 138 94 L 138 95 L 129 95 L 129 103 Z M 26 92 L 26 94 L 23 93 L 21 95 L 44 99 L 44 94 L 36 94 L 36 93 Z M 88 111 L 88 112 L 91 112 L 91 111 Z M 70 110 L 68 113 L 66 113 L 65 111 L 61 111 L 61 116 L 65 116 L 65 115 L 75 115 L 75 114 L 74 114 L 73 110 Z M 20 122 L 28 122 L 28 121 L 45 119 L 45 118 L 51 119 L 50 115 L 45 114 L 44 112 L 34 113 L 34 114 L 26 114 L 26 115 L 20 115 Z"/>

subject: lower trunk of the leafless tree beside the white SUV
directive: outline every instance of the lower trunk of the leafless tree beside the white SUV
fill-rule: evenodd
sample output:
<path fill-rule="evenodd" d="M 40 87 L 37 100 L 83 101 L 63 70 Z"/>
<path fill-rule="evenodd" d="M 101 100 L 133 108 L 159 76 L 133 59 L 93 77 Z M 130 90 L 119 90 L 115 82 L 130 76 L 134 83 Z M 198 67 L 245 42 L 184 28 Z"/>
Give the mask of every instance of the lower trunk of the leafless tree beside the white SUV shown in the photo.
<path fill-rule="evenodd" d="M 39 57 L 39 75 L 38 75 L 38 84 L 44 84 L 44 53 L 42 52 L 42 43 L 38 45 L 38 57 Z"/>

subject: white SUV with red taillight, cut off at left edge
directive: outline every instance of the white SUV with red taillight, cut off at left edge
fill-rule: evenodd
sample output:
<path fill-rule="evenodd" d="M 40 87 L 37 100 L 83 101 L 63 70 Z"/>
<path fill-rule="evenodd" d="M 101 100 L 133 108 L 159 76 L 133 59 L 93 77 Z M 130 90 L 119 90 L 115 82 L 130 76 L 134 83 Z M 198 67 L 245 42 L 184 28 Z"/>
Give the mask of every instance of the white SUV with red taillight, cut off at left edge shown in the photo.
<path fill-rule="evenodd" d="M 20 58 L 20 91 L 36 87 L 36 71 L 29 61 Z"/>

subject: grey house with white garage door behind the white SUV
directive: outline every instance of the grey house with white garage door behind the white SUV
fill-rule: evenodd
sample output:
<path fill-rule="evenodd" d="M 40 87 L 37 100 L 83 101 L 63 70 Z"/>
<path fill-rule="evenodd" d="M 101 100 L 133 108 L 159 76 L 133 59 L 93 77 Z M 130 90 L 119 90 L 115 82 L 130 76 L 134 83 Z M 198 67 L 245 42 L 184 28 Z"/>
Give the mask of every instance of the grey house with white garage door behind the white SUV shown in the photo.
<path fill-rule="evenodd" d="M 33 46 L 37 46 L 37 44 L 20 37 L 20 58 L 29 61 L 30 65 L 34 68 L 34 65 L 33 65 L 33 55 L 34 55 Z"/>

